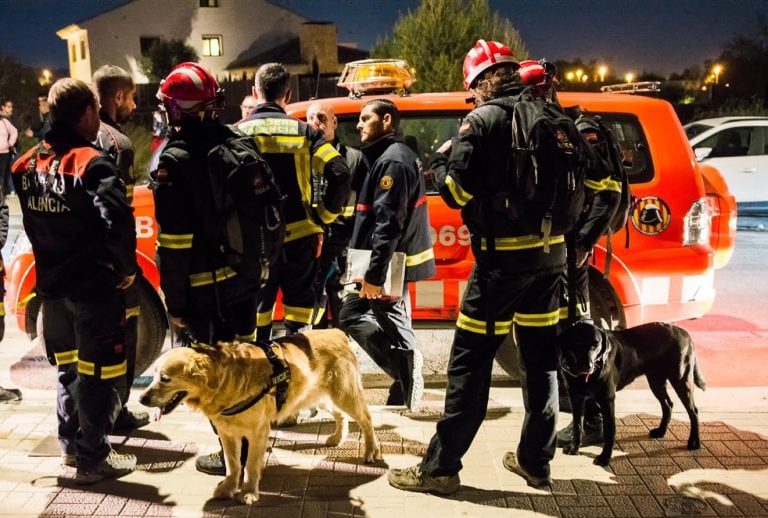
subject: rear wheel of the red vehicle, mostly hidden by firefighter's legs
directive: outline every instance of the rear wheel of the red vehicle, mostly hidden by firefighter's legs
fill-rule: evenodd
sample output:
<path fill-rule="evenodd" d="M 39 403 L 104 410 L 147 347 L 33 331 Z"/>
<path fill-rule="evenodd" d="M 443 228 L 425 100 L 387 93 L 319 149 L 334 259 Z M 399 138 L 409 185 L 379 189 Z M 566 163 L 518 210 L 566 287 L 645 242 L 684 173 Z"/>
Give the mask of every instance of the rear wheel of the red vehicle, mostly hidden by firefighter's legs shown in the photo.
<path fill-rule="evenodd" d="M 621 304 L 608 281 L 597 270 L 589 271 L 589 307 L 595 323 L 606 329 L 626 327 Z M 496 351 L 496 363 L 514 379 L 520 378 L 520 360 L 517 357 L 515 333 L 509 333 Z"/>

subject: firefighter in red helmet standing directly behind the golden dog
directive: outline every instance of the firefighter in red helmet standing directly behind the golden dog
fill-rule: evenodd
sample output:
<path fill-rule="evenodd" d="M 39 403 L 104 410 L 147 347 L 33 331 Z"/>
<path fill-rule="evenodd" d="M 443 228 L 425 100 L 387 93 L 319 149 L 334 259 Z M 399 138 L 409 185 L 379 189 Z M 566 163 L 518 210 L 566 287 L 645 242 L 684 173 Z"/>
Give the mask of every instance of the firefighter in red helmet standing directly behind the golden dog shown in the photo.
<path fill-rule="evenodd" d="M 177 65 L 157 98 L 172 128 L 150 174 L 158 225 L 157 263 L 168 318 L 189 345 L 255 339 L 258 279 L 238 276 L 219 248 L 207 155 L 234 132 L 218 119 L 224 93 L 196 63 Z M 221 451 L 198 457 L 198 471 L 224 475 Z"/>

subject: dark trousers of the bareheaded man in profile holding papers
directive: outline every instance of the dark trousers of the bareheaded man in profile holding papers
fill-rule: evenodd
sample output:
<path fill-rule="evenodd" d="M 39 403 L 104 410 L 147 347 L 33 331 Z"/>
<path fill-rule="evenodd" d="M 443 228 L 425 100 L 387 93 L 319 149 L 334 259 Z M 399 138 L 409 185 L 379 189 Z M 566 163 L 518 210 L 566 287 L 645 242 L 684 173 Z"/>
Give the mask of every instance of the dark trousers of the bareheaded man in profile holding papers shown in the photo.
<path fill-rule="evenodd" d="M 402 384 L 401 376 L 407 372 L 400 351 L 416 349 L 408 283 L 403 283 L 402 297 L 363 299 L 357 293 L 346 294 L 339 325 L 381 370 Z"/>

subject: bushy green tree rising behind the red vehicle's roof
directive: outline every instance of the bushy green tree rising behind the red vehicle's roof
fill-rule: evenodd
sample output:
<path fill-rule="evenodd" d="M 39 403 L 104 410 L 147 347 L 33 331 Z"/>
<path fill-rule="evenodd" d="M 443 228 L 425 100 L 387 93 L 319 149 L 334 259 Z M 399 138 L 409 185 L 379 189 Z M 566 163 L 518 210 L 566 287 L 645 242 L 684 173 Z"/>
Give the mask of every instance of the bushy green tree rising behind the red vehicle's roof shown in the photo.
<path fill-rule="evenodd" d="M 422 0 L 376 42 L 372 57 L 402 58 L 417 71 L 417 92 L 463 89 L 462 63 L 479 39 L 500 41 L 517 59 L 528 50 L 512 22 L 491 12 L 488 0 Z"/>

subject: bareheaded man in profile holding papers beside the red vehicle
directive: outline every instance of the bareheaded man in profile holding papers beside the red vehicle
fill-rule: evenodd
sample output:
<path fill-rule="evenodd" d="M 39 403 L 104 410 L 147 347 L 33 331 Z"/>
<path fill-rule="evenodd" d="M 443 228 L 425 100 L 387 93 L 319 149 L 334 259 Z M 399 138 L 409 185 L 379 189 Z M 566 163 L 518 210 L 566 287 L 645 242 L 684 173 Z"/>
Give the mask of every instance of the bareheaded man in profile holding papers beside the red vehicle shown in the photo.
<path fill-rule="evenodd" d="M 415 409 L 424 389 L 422 354 L 416 349 L 408 283 L 435 274 L 424 177 L 417 157 L 398 135 L 400 113 L 388 99 L 372 99 L 360 111 L 357 129 L 370 165 L 355 210 L 350 248 L 370 250 L 359 293 L 348 293 L 341 328 L 394 379 L 387 404 Z M 394 252 L 405 252 L 402 293 L 382 296 Z"/>

